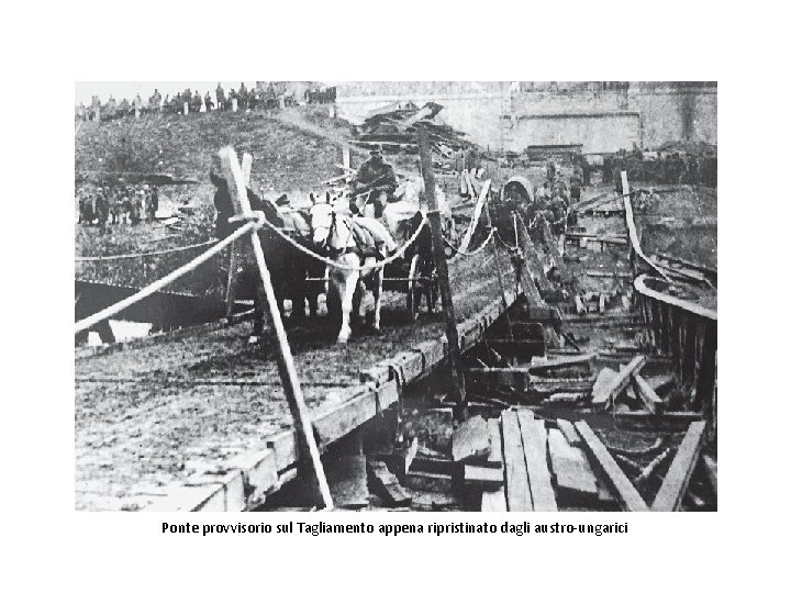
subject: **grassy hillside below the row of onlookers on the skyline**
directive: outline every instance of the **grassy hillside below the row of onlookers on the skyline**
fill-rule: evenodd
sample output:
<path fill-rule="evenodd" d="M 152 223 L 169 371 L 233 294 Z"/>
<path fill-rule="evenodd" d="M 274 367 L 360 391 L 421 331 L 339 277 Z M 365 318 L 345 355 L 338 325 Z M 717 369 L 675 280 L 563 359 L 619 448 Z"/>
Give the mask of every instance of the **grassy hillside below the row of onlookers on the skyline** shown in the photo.
<path fill-rule="evenodd" d="M 147 221 L 137 226 L 108 226 L 104 231 L 77 225 L 75 255 L 157 251 L 211 238 L 214 187 L 209 181 L 209 167 L 212 154 L 226 144 L 232 144 L 239 155 L 243 152 L 253 155 L 252 182 L 258 191 L 279 194 L 319 188 L 322 180 L 337 175 L 334 165 L 341 161 L 338 145 L 348 136 L 348 128 L 328 120 L 326 108 L 290 111 L 293 113 L 288 114 L 287 121 L 258 111 L 85 122 L 75 137 L 76 188 L 119 183 L 119 179 L 127 178 L 130 172 L 166 174 L 176 179 L 194 180 L 197 184 L 160 188 L 160 211 L 174 211 L 185 204 L 191 206 L 191 213 L 178 231 Z M 145 259 L 79 262 L 76 277 L 142 287 L 194 255 L 185 251 Z M 172 290 L 219 293 L 221 266 L 222 258 L 215 258 Z"/>

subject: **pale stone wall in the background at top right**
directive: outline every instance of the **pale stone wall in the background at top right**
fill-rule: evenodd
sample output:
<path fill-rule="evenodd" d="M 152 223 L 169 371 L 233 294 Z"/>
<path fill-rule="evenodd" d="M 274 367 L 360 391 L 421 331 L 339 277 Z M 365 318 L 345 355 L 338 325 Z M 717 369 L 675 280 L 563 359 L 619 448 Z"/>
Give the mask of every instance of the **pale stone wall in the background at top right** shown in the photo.
<path fill-rule="evenodd" d="M 338 114 L 355 123 L 375 109 L 441 103 L 439 116 L 491 149 L 582 144 L 584 152 L 653 148 L 668 141 L 716 144 L 716 83 L 342 82 Z"/>

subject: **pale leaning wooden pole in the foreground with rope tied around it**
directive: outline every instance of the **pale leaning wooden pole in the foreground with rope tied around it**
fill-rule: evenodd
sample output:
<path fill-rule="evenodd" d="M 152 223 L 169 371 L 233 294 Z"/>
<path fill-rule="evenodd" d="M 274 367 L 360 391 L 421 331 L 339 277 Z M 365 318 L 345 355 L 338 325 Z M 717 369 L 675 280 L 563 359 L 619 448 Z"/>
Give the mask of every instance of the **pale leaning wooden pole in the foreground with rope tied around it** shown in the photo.
<path fill-rule="evenodd" d="M 220 149 L 220 160 L 222 163 L 223 174 L 229 183 L 229 191 L 237 197 L 241 205 L 241 214 L 250 215 L 250 204 L 247 199 L 247 189 L 245 188 L 242 167 L 239 167 L 236 152 L 232 146 L 225 146 Z M 315 502 L 322 504 L 326 511 L 332 511 L 333 502 L 330 494 L 324 468 L 319 456 L 319 447 L 313 437 L 313 428 L 308 414 L 308 406 L 302 396 L 302 388 L 297 376 L 297 367 L 291 356 L 291 347 L 288 343 L 286 328 L 280 317 L 275 289 L 272 288 L 271 278 L 269 277 L 269 268 L 267 268 L 264 258 L 264 248 L 261 247 L 258 233 L 250 233 L 253 243 L 253 251 L 255 253 L 256 264 L 260 272 L 260 279 L 266 293 L 267 306 L 265 307 L 269 323 L 275 329 L 278 342 L 278 371 L 280 373 L 280 382 L 282 383 L 286 398 L 288 399 L 291 416 L 293 417 L 294 430 L 297 432 L 297 443 L 300 449 L 300 466 L 304 478 L 311 483 L 315 495 Z"/>

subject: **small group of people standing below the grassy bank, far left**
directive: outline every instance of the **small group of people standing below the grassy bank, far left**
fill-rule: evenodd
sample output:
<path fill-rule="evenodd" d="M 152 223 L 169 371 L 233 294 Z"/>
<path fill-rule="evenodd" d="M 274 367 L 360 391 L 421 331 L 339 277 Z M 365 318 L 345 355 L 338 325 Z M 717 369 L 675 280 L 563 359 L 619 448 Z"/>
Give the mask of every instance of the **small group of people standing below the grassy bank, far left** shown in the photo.
<path fill-rule="evenodd" d="M 86 226 L 140 224 L 159 210 L 159 188 L 147 183 L 105 183 L 77 189 L 78 222 Z"/>

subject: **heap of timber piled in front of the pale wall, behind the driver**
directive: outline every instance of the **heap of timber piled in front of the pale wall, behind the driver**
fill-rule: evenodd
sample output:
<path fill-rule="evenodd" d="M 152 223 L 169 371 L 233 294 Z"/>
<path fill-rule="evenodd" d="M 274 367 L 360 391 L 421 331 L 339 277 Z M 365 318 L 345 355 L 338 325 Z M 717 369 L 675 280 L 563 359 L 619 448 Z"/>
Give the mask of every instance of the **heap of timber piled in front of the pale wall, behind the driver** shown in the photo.
<path fill-rule="evenodd" d="M 352 144 L 364 148 L 379 145 L 386 153 L 417 154 L 417 127 L 422 126 L 428 131 L 434 149 L 445 157 L 452 156 L 453 150 L 474 147 L 464 138 L 464 132 L 435 120 L 442 110 L 443 105 L 428 102 L 422 108 L 408 103 L 403 108 L 378 112 L 355 127 L 357 137 Z"/>

